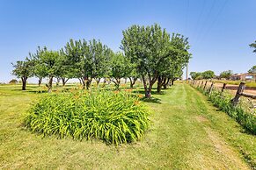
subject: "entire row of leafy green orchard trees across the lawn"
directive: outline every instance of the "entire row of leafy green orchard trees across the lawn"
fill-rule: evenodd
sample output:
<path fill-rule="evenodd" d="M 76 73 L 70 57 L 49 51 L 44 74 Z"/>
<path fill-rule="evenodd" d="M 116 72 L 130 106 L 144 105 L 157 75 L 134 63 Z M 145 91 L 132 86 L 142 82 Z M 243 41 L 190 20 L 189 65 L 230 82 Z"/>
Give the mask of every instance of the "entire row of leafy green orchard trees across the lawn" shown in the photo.
<path fill-rule="evenodd" d="M 96 39 L 69 39 L 59 51 L 38 47 L 26 60 L 13 64 L 12 74 L 22 79 L 22 89 L 26 89 L 28 77 L 38 77 L 39 85 L 43 78 L 48 78 L 48 92 L 52 90 L 54 78 L 57 84 L 62 81 L 63 86 L 70 78 L 77 78 L 84 89 L 90 88 L 92 80 L 99 85 L 106 78 L 117 89 L 121 78 L 128 78 L 133 88 L 140 78 L 146 97 L 150 97 L 156 82 L 160 92 L 181 77 L 191 58 L 187 38 L 178 33 L 171 36 L 157 24 L 132 25 L 122 33 L 121 52 L 113 53 Z"/>

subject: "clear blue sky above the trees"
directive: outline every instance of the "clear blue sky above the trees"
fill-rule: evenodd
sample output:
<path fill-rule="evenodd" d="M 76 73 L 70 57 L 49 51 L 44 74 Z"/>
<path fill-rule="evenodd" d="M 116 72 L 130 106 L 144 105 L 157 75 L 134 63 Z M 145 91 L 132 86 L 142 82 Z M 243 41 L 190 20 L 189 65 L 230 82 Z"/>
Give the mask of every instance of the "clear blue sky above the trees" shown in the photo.
<path fill-rule="evenodd" d="M 255 0 L 1 0 L 0 81 L 11 78 L 11 62 L 37 46 L 58 50 L 70 39 L 100 39 L 114 51 L 130 25 L 157 23 L 189 38 L 190 71 L 256 65 L 248 45 L 256 40 Z"/>

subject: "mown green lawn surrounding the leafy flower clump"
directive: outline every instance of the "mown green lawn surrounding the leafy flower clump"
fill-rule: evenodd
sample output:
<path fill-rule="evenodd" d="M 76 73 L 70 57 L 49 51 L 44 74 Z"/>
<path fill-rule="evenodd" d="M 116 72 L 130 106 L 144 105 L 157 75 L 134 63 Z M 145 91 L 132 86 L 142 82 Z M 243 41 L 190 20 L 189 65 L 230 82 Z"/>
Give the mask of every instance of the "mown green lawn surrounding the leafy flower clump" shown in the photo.
<path fill-rule="evenodd" d="M 176 84 L 152 112 L 143 140 L 106 145 L 42 137 L 27 131 L 23 119 L 30 104 L 44 93 L 36 86 L 0 86 L 0 168 L 10 169 L 249 169 L 256 168 L 256 138 L 208 103 L 187 84 Z"/>

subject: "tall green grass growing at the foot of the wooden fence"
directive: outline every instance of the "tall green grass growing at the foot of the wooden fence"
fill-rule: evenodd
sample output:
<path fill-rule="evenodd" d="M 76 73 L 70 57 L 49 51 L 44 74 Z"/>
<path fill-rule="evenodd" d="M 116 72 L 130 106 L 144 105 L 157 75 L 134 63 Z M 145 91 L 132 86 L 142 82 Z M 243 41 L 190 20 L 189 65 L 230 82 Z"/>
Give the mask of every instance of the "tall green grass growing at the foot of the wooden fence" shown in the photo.
<path fill-rule="evenodd" d="M 244 129 L 256 135 L 256 115 L 255 111 L 248 110 L 245 103 L 239 102 L 237 106 L 231 103 L 232 96 L 228 92 L 221 92 L 213 89 L 209 94 L 208 90 L 199 89 L 202 93 L 208 96 L 208 99 L 220 110 L 226 112 L 230 117 L 236 119 L 238 124 L 241 124 Z M 245 101 L 244 101 L 245 102 Z"/>

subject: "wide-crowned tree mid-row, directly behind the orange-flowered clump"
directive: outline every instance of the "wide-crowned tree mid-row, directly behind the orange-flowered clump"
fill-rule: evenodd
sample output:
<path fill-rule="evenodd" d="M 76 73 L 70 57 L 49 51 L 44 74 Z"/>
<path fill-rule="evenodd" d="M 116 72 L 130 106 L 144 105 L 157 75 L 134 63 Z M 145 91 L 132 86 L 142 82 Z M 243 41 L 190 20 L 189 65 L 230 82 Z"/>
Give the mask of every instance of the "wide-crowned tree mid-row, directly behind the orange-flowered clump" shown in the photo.
<path fill-rule="evenodd" d="M 92 39 L 87 42 L 83 40 L 69 39 L 62 53 L 69 61 L 69 70 L 74 78 L 78 78 L 83 84 L 83 89 L 90 88 L 92 79 L 99 84 L 108 69 L 109 55 L 111 49 L 98 40 Z"/>

